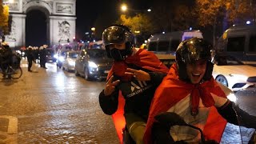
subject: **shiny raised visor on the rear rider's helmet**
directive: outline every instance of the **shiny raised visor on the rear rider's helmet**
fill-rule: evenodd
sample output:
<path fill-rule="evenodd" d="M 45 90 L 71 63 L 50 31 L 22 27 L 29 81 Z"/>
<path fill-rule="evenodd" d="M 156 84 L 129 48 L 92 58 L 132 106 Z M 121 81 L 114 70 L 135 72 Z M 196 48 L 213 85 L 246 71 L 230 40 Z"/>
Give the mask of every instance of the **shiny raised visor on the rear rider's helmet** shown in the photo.
<path fill-rule="evenodd" d="M 102 40 L 105 46 L 129 42 L 131 39 L 130 32 L 119 26 L 110 26 L 102 34 Z"/>

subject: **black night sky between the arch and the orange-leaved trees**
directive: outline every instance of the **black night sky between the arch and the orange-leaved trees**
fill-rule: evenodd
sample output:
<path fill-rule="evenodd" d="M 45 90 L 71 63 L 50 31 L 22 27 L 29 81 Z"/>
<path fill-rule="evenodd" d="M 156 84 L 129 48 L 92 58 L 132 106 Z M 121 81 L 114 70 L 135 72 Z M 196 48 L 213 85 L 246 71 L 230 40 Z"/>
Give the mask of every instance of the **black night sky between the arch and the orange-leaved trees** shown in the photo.
<path fill-rule="evenodd" d="M 120 6 L 126 3 L 133 7 L 134 10 L 147 10 L 150 7 L 150 2 L 153 0 L 77 0 L 76 2 L 76 33 L 77 37 L 82 37 L 91 27 L 98 17 L 104 17 L 105 13 L 111 15 L 111 18 L 106 18 L 106 22 L 102 22 L 104 27 L 110 26 L 114 18 L 118 18 L 121 14 Z M 109 22 L 107 22 L 109 21 Z"/>

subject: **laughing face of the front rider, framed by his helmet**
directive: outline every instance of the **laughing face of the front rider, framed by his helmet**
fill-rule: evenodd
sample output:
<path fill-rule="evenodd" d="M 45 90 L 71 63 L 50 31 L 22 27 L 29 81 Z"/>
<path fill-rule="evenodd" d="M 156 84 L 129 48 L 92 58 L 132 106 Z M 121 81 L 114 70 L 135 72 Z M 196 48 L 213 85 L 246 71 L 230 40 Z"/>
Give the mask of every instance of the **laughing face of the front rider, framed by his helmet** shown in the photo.
<path fill-rule="evenodd" d="M 190 78 L 190 82 L 197 84 L 201 82 L 206 73 L 206 60 L 198 60 L 194 63 L 186 64 L 186 74 Z"/>

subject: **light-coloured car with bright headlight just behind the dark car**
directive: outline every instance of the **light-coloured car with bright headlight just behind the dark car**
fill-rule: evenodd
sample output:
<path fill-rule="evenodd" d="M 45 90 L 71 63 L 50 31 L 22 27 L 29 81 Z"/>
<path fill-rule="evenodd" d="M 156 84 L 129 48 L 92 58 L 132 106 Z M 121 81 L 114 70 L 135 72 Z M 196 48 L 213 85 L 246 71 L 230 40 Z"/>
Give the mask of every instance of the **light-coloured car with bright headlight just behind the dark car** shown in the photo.
<path fill-rule="evenodd" d="M 67 51 L 62 62 L 62 70 L 74 70 L 74 62 L 78 58 L 78 51 Z"/>

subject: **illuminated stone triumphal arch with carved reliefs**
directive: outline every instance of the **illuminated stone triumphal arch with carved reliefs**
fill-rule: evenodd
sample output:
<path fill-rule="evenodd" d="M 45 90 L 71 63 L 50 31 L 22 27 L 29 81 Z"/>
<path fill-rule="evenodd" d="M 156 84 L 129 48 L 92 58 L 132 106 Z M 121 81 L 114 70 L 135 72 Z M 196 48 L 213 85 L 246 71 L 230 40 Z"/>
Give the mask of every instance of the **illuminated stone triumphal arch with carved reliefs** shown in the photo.
<path fill-rule="evenodd" d="M 73 40 L 75 2 L 76 0 L 14 0 L 8 3 L 12 24 L 10 35 L 6 35 L 6 42 L 11 47 L 26 46 L 26 14 L 30 10 L 40 10 L 46 14 L 46 41 L 50 46 Z"/>

